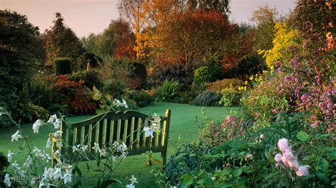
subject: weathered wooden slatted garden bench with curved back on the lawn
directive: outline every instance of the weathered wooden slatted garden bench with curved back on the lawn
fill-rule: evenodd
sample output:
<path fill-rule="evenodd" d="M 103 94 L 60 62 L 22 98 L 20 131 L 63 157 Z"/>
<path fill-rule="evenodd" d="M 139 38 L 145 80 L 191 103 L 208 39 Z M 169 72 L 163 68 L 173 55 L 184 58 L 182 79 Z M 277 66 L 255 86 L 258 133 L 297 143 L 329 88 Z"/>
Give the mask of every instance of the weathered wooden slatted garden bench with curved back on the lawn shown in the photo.
<path fill-rule="evenodd" d="M 106 112 L 98 114 L 83 122 L 61 124 L 62 141 L 65 146 L 57 147 L 56 138 L 52 136 L 52 156 L 55 151 L 60 151 L 62 160 L 72 161 L 72 146 L 86 145 L 87 153 L 94 154 L 94 143 L 99 143 L 100 148 L 111 147 L 113 143 L 122 141 L 128 146 L 128 155 L 139 155 L 146 151 L 161 153 L 162 160 L 150 158 L 149 164 L 158 163 L 163 167 L 167 160 L 167 146 L 169 137 L 170 110 L 166 110 L 161 117 L 160 129 L 153 133 L 153 137 L 145 137 L 143 127 L 148 121 L 148 115 L 135 111 Z M 149 122 L 148 122 L 149 124 Z M 60 160 L 60 158 L 58 159 Z M 80 160 L 86 160 L 81 158 Z"/>

